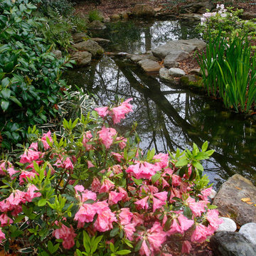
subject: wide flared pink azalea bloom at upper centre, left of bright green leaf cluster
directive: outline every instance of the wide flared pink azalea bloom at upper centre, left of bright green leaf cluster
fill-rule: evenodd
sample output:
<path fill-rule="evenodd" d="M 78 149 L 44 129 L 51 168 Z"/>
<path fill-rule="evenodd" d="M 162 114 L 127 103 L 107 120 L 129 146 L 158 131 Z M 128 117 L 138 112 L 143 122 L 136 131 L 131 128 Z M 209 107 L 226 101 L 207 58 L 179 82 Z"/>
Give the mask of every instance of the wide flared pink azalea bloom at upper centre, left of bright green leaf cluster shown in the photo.
<path fill-rule="evenodd" d="M 139 162 L 133 164 L 127 168 L 127 174 L 132 174 L 135 178 L 151 178 L 157 171 L 157 167 L 154 164 L 149 164 L 147 162 Z"/>

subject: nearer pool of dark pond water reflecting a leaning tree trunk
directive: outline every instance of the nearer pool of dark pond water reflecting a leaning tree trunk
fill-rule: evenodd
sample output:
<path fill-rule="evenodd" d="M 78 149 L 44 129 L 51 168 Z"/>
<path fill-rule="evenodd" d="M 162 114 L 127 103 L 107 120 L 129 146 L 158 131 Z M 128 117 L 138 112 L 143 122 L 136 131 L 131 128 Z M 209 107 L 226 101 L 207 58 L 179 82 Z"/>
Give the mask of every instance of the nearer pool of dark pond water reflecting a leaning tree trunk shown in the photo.
<path fill-rule="evenodd" d="M 216 152 L 204 168 L 215 186 L 235 173 L 255 178 L 256 125 L 223 111 L 220 103 L 166 85 L 124 60 L 107 56 L 90 68 L 71 70 L 68 78 L 95 94 L 98 105 L 107 105 L 115 94 L 133 97 L 134 112 L 122 129 L 129 129 L 136 120 L 144 149 L 173 151 L 208 140 Z"/>

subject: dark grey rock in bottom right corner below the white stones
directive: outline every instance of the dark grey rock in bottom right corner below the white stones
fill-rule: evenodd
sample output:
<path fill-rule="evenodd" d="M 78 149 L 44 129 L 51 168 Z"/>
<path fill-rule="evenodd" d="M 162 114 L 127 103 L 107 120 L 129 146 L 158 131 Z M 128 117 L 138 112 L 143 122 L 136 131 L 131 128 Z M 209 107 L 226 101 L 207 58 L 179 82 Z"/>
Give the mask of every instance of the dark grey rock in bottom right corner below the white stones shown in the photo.
<path fill-rule="evenodd" d="M 256 245 L 237 232 L 217 232 L 210 238 L 210 245 L 215 256 L 256 255 Z"/>

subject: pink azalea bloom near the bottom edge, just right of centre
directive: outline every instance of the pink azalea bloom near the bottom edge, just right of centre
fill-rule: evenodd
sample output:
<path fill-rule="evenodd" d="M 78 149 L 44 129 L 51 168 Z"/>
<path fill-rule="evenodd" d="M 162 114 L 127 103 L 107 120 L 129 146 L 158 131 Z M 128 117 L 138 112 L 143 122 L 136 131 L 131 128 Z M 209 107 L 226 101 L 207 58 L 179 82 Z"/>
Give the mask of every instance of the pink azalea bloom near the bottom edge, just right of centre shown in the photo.
<path fill-rule="evenodd" d="M 147 233 L 150 246 L 155 252 L 159 252 L 161 245 L 166 241 L 166 233 L 161 227 L 161 224 L 158 222 L 154 223 L 153 227 Z"/>

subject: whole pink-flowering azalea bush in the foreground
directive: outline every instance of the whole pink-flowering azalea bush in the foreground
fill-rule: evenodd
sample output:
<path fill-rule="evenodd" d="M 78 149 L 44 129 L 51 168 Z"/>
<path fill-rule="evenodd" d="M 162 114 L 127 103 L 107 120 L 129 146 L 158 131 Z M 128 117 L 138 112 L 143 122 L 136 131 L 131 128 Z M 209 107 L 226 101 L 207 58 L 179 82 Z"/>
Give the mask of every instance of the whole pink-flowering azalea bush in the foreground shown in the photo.
<path fill-rule="evenodd" d="M 38 255 L 150 256 L 171 255 L 163 246 L 173 239 L 186 254 L 213 235 L 221 221 L 196 160 L 213 151 L 206 142 L 202 151 L 143 154 L 134 127 L 127 137 L 111 127 L 132 112 L 131 100 L 65 120 L 61 139 L 34 127 L 19 161 L 0 161 L 1 244 L 22 240 Z"/>

